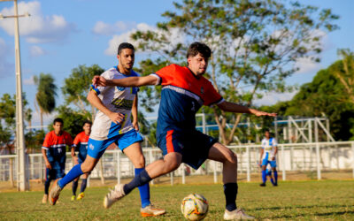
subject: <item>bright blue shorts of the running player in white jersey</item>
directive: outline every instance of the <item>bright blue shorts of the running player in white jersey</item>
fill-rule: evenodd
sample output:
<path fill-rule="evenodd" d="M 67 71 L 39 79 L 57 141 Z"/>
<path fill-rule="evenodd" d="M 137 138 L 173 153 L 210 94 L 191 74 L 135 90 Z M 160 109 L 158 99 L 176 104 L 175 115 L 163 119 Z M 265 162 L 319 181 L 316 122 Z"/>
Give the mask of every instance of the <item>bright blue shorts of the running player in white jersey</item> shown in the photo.
<path fill-rule="evenodd" d="M 133 129 L 127 133 L 118 134 L 104 141 L 96 141 L 89 138 L 88 155 L 95 159 L 99 159 L 104 154 L 105 149 L 107 149 L 113 142 L 123 151 L 135 142 L 142 142 L 142 135 Z"/>

